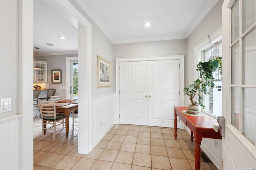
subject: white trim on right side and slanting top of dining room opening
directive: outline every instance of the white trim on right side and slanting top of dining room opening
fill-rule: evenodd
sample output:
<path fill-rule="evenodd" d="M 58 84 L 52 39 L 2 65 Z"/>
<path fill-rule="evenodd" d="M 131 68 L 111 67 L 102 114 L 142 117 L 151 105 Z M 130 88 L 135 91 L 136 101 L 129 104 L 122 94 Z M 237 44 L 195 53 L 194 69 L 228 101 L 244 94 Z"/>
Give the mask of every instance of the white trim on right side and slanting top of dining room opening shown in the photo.
<path fill-rule="evenodd" d="M 80 67 L 78 73 L 79 103 L 78 108 L 83 112 L 79 120 L 78 153 L 88 154 L 92 150 L 92 25 L 86 18 L 68 1 L 54 0 L 45 2 L 68 19 L 78 28 L 78 62 Z"/>

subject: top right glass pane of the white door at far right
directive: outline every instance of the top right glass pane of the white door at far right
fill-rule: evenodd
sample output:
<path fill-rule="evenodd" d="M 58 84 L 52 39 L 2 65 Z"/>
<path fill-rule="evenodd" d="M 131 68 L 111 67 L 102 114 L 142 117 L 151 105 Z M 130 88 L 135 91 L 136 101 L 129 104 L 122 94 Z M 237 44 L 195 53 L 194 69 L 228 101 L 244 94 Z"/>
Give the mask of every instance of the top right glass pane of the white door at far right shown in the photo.
<path fill-rule="evenodd" d="M 255 0 L 242 0 L 243 33 L 255 23 Z"/>

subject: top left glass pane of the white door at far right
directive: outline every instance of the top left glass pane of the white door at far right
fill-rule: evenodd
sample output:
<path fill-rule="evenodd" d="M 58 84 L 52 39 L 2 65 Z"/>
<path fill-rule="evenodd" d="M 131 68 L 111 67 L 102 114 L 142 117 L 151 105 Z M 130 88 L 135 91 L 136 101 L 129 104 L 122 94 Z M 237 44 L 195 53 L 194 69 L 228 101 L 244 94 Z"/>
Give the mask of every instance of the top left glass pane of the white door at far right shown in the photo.
<path fill-rule="evenodd" d="M 236 0 L 231 8 L 231 42 L 239 37 L 239 1 Z"/>

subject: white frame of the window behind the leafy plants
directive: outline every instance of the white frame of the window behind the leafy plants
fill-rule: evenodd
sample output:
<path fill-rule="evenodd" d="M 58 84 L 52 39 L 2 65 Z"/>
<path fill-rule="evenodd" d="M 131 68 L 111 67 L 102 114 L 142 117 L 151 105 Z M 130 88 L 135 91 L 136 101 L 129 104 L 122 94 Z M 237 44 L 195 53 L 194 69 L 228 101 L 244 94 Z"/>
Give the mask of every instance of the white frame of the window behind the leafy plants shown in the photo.
<path fill-rule="evenodd" d="M 214 33 L 212 33 L 210 35 L 211 39 L 214 40 L 212 41 L 212 43 L 219 41 L 222 38 L 222 27 L 218 28 L 218 30 L 216 30 Z M 202 58 L 204 58 L 204 54 L 202 53 L 203 50 L 205 50 L 206 46 L 209 46 L 209 38 L 207 37 L 206 39 L 204 39 L 200 44 L 198 44 L 195 48 L 194 48 L 194 80 L 198 79 L 198 73 L 196 71 L 196 65 L 198 64 L 198 62 L 200 62 L 202 60 Z M 202 107 L 201 107 L 201 111 L 202 111 Z M 208 114 L 209 116 L 217 119 L 217 116 L 215 116 L 214 114 L 211 114 L 210 112 L 204 112 L 206 114 Z"/>

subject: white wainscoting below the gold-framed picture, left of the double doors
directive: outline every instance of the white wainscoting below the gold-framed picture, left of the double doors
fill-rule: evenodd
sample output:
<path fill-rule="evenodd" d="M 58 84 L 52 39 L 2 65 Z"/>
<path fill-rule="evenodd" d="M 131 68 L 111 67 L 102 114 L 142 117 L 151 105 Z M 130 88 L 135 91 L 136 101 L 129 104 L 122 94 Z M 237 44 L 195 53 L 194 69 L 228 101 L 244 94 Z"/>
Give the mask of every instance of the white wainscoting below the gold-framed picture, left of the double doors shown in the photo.
<path fill-rule="evenodd" d="M 114 124 L 115 93 L 92 98 L 92 148 Z"/>

